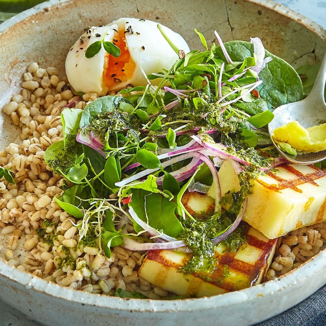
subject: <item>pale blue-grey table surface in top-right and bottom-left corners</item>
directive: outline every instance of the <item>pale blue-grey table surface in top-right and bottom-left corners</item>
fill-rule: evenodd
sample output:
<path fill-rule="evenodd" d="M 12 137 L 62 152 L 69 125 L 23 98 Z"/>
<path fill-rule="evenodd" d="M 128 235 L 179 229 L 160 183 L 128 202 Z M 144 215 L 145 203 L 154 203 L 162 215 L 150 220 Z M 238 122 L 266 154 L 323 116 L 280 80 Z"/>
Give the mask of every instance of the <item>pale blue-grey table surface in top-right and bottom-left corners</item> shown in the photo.
<path fill-rule="evenodd" d="M 326 1 L 282 0 L 276 2 L 303 14 L 326 28 Z M 0 300 L 0 326 L 41 326 L 41 324 L 28 319 L 20 311 Z"/>

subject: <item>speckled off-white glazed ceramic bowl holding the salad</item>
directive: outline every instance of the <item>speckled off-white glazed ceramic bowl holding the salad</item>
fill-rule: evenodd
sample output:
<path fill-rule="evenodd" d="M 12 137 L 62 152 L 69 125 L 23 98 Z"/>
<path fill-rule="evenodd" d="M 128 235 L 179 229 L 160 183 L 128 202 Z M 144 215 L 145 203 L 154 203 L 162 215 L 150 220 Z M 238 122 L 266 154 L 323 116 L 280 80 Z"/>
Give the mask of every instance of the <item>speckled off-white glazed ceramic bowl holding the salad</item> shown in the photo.
<path fill-rule="evenodd" d="M 194 49 L 196 27 L 208 41 L 218 30 L 224 41 L 258 36 L 265 48 L 294 67 L 319 61 L 326 31 L 269 0 L 112 1 L 51 0 L 0 25 L 0 108 L 20 87 L 33 61 L 64 74 L 68 49 L 84 27 L 119 17 L 161 22 Z M 0 116 L 3 148 L 19 134 Z M 6 248 L 0 238 L 1 251 Z M 0 298 L 45 325 L 250 325 L 304 300 L 326 283 L 326 251 L 277 280 L 210 298 L 175 301 L 121 299 L 63 288 L 23 273 L 0 258 Z M 304 313 L 304 312 L 303 312 Z"/>

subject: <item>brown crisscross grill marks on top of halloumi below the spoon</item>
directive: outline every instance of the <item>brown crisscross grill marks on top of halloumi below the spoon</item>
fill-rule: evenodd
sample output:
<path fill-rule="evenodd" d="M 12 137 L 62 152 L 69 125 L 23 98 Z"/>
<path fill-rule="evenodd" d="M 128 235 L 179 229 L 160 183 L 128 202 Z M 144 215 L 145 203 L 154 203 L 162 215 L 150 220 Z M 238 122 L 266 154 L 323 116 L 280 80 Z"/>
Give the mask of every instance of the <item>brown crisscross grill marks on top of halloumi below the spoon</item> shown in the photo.
<path fill-rule="evenodd" d="M 267 172 L 267 174 L 272 177 L 273 179 L 277 180 L 279 182 L 278 185 L 276 184 L 267 184 L 264 181 L 256 180 L 259 184 L 263 185 L 266 188 L 269 188 L 271 190 L 274 190 L 276 192 L 280 192 L 280 190 L 291 188 L 294 191 L 302 193 L 302 189 L 299 189 L 298 185 L 303 185 L 305 183 L 310 183 L 312 185 L 315 185 L 319 187 L 319 185 L 315 182 L 315 180 L 322 178 L 326 176 L 326 173 L 323 170 L 320 170 L 319 168 L 315 167 L 313 164 L 309 165 L 310 168 L 314 169 L 314 172 L 303 174 L 299 170 L 295 169 L 293 166 L 289 164 L 283 164 L 281 167 L 288 172 L 294 174 L 297 178 L 294 178 L 292 180 L 286 180 L 281 178 L 280 176 L 274 174 L 273 172 Z"/>

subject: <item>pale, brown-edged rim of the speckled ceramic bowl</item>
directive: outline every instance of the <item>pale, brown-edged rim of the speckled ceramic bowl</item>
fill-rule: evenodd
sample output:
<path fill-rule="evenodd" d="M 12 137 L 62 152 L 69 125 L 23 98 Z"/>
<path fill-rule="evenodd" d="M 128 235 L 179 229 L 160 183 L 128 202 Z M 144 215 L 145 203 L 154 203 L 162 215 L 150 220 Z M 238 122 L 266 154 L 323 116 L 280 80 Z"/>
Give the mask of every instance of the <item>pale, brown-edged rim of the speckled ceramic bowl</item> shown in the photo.
<path fill-rule="evenodd" d="M 9 32 L 10 27 L 23 20 L 27 20 L 30 16 L 52 6 L 65 6 L 75 0 L 48 0 L 31 9 L 10 18 L 6 22 L 0 24 L 0 36 Z M 316 22 L 309 18 L 281 5 L 272 0 L 245 0 L 267 9 L 271 9 L 283 16 L 289 17 L 307 29 L 317 34 L 323 40 L 326 40 L 326 30 Z M 212 297 L 190 298 L 182 300 L 152 300 L 152 299 L 129 299 L 114 296 L 105 296 L 101 294 L 92 294 L 87 292 L 78 292 L 67 287 L 43 280 L 28 272 L 23 272 L 9 265 L 7 261 L 0 258 L 0 276 L 8 281 L 21 284 L 26 289 L 34 289 L 45 295 L 55 297 L 57 299 L 68 300 L 76 304 L 95 305 L 102 308 L 110 308 L 114 310 L 132 310 L 133 312 L 171 312 L 183 311 L 194 312 L 196 310 L 214 308 L 223 308 L 230 304 L 241 304 L 245 301 L 263 298 L 280 292 L 285 288 L 293 286 L 299 282 L 303 282 L 308 277 L 326 268 L 326 249 L 320 251 L 316 256 L 306 261 L 300 268 L 282 275 L 277 279 L 262 283 L 247 289 L 242 289 L 225 294 L 219 294 Z M 218 300 L 217 300 L 218 299 Z M 283 310 L 284 311 L 284 310 Z M 282 311 L 278 311 L 280 313 Z"/>

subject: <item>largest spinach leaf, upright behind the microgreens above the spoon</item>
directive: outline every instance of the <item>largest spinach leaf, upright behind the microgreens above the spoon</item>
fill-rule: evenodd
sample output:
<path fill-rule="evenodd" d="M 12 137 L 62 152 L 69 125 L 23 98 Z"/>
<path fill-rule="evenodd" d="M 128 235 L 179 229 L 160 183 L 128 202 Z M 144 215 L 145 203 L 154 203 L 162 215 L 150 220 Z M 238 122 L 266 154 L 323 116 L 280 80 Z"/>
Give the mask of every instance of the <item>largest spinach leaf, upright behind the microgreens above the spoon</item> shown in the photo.
<path fill-rule="evenodd" d="M 243 61 L 246 57 L 252 57 L 254 53 L 254 46 L 250 42 L 230 41 L 224 45 L 233 61 Z M 217 47 L 215 53 L 225 60 L 221 47 Z M 267 50 L 265 57 L 271 57 L 273 60 L 259 72 L 259 79 L 263 81 L 257 87 L 260 96 L 273 107 L 301 100 L 302 82 L 294 68 Z"/>

